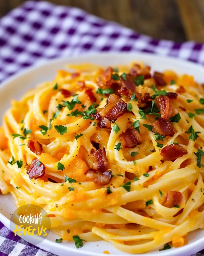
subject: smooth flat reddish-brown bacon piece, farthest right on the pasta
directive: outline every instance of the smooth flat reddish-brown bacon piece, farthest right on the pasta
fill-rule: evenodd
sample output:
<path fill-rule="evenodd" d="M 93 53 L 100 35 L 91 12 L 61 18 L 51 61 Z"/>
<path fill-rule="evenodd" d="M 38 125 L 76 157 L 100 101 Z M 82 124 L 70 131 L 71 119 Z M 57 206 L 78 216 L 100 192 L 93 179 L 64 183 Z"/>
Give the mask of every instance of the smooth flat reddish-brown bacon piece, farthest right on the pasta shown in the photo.
<path fill-rule="evenodd" d="M 174 161 L 183 155 L 188 154 L 188 151 L 178 144 L 168 145 L 162 148 L 161 156 L 163 156 L 163 161 Z"/>

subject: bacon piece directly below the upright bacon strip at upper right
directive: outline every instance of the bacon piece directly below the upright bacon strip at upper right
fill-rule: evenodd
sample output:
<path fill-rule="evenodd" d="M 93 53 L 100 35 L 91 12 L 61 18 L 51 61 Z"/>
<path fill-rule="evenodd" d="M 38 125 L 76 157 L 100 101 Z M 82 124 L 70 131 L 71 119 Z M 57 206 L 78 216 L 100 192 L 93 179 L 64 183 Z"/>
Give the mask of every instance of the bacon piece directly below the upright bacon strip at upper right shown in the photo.
<path fill-rule="evenodd" d="M 171 122 L 163 118 L 159 118 L 157 121 L 152 122 L 152 125 L 155 131 L 162 136 L 173 136 L 177 132 Z"/>

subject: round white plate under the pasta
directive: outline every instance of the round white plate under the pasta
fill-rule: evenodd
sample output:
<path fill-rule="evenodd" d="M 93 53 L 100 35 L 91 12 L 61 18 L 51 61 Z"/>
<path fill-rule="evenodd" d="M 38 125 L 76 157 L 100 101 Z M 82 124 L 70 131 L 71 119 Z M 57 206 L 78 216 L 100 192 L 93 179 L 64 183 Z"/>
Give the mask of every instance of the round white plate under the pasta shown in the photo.
<path fill-rule="evenodd" d="M 175 70 L 177 73 L 191 74 L 199 83 L 204 82 L 204 67 L 192 62 L 182 61 L 170 57 L 160 57 L 152 54 L 130 53 L 130 54 L 96 54 L 74 58 L 65 58 L 57 60 L 49 60 L 44 64 L 25 69 L 22 72 L 7 79 L 0 86 L 0 120 L 4 111 L 9 107 L 11 99 L 19 99 L 28 89 L 33 88 L 36 84 L 46 80 L 52 80 L 58 69 L 65 68 L 67 63 L 83 63 L 90 62 L 103 66 L 117 66 L 120 64 L 129 64 L 132 61 L 142 60 L 152 70 L 163 71 L 165 69 Z M 10 215 L 14 212 L 15 206 L 12 196 L 0 195 L 0 220 L 9 228 Z M 48 238 L 38 247 L 55 253 L 60 256 L 79 256 L 93 255 L 104 256 L 103 251 L 107 250 L 112 256 L 131 255 L 120 252 L 106 241 L 86 242 L 82 248 L 76 249 L 73 242 L 63 241 L 56 243 L 55 239 L 59 238 L 50 232 Z M 172 248 L 165 251 L 152 251 L 145 254 L 137 254 L 137 256 L 189 256 L 204 248 L 204 231 L 197 230 L 188 236 L 188 244 L 180 248 Z"/>

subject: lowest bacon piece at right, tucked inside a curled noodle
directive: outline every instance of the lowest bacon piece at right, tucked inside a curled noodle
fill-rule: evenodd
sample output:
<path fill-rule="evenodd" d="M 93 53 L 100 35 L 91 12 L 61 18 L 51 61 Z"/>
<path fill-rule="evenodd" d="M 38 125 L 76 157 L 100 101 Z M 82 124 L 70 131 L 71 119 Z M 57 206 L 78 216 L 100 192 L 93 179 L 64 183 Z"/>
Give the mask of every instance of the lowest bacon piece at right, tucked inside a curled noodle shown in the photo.
<path fill-rule="evenodd" d="M 179 205 L 184 198 L 184 195 L 179 191 L 167 191 L 166 197 L 162 197 L 162 205 L 168 208 L 172 208 L 175 205 Z"/>

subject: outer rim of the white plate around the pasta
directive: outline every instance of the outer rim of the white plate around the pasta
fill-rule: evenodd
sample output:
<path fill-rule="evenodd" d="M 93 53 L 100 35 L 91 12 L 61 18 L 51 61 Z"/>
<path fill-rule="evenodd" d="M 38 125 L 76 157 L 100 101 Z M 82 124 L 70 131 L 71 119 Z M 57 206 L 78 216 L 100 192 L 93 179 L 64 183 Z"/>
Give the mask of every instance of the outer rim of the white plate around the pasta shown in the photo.
<path fill-rule="evenodd" d="M 121 57 L 122 56 L 130 56 L 130 57 L 133 57 L 135 56 L 136 60 L 143 60 L 143 58 L 155 58 L 157 59 L 158 61 L 165 61 L 165 60 L 171 60 L 171 61 L 176 61 L 178 65 L 187 65 L 187 66 L 192 66 L 192 67 L 195 67 L 195 68 L 198 68 L 198 69 L 202 69 L 204 71 L 204 66 L 201 65 L 200 63 L 195 63 L 195 62 L 192 62 L 192 61 L 189 61 L 189 60 L 184 60 L 184 59 L 179 59 L 179 58 L 176 58 L 176 57 L 172 57 L 172 56 L 161 56 L 161 55 L 156 55 L 156 54 L 153 54 L 153 53 L 146 53 L 146 52 L 91 52 L 91 53 L 86 53 L 86 54 L 82 54 L 82 55 L 79 55 L 79 56 L 71 56 L 71 57 L 59 57 L 59 58 L 53 58 L 53 59 L 42 59 L 40 61 L 36 61 L 33 65 L 29 66 L 29 67 L 26 67 L 26 68 L 23 68 L 22 70 L 20 71 L 17 71 L 15 74 L 11 75 L 10 77 L 7 77 L 5 78 L 1 83 L 0 83 L 0 92 L 6 87 L 6 85 L 8 83 L 12 83 L 14 82 L 16 79 L 20 78 L 20 77 L 23 77 L 24 75 L 26 75 L 27 73 L 29 72 L 34 72 L 35 70 L 37 70 L 38 68 L 43 68 L 45 66 L 49 66 L 51 64 L 56 64 L 56 63 L 61 63 L 61 62 L 64 62 L 64 61 L 67 61 L 67 63 L 71 63 L 71 61 L 73 59 L 84 59 L 84 62 L 86 57 L 89 57 L 89 58 L 100 58 L 101 56 L 103 56 L 103 58 L 106 56 L 108 59 L 111 58 L 111 57 L 114 57 L 114 56 L 118 56 L 120 55 Z M 145 60 L 144 60 L 145 62 Z M 103 65 L 102 65 L 103 66 Z M 3 196 L 3 195 L 1 195 Z M 9 229 L 9 222 L 10 222 L 10 219 L 8 219 L 6 216 L 4 216 L 1 212 L 0 212 L 0 220 L 1 222 Z M 9 229 L 10 230 L 10 229 Z M 52 249 L 53 248 L 53 243 L 54 241 L 50 241 L 50 240 L 44 240 L 43 242 L 41 242 L 40 244 L 37 244 L 36 246 L 43 249 L 43 250 L 47 250 L 47 249 Z M 71 247 L 66 247 L 65 244 L 55 244 L 55 252 L 53 252 L 52 250 L 49 250 L 49 252 L 52 252 L 52 253 L 55 253 L 55 254 L 58 254 L 57 251 L 58 250 L 62 250 L 63 251 L 66 251 L 66 252 L 70 252 L 70 253 L 74 253 L 75 255 L 92 255 L 92 256 L 103 256 L 104 253 L 98 253 L 98 252 L 88 252 L 88 251 L 84 251 L 83 249 L 76 249 L 76 248 L 71 248 Z M 174 256 L 180 256 L 180 255 L 190 255 L 190 254 L 193 254 L 193 253 L 196 253 L 198 252 L 197 250 L 202 250 L 204 249 L 204 236 L 202 238 L 199 238 L 197 241 L 194 241 L 190 244 L 187 244 L 183 247 L 179 247 L 179 248 L 176 248 L 172 251 L 160 251 L 160 252 L 147 252 L 147 253 L 138 253 L 138 254 L 135 254 L 137 256 L 144 256 L 145 254 L 147 255 L 152 255 L 152 256 L 172 256 L 172 253 L 174 254 Z M 188 254 L 190 251 L 190 254 Z M 187 253 L 187 254 L 185 254 Z M 121 254 L 112 254 L 112 256 L 121 256 Z M 129 253 L 124 253 L 122 255 L 131 255 Z"/>

